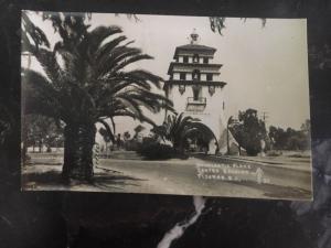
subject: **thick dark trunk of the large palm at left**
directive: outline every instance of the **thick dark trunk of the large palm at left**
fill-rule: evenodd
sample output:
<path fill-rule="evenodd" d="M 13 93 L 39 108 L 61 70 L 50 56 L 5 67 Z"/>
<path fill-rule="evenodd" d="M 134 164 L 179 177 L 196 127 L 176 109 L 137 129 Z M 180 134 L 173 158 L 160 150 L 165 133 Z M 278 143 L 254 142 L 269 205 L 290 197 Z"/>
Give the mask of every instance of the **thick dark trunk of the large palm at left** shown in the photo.
<path fill-rule="evenodd" d="M 65 179 L 92 180 L 95 134 L 94 123 L 66 125 L 62 169 Z"/>

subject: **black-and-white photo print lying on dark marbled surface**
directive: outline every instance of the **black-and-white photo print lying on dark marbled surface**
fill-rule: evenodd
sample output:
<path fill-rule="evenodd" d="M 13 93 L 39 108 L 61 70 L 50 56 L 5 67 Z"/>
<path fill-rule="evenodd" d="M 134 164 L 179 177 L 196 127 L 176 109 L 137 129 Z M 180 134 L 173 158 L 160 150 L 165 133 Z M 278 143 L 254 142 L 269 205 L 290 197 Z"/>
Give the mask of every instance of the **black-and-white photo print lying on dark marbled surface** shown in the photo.
<path fill-rule="evenodd" d="M 312 201 L 307 19 L 21 14 L 22 191 Z"/>

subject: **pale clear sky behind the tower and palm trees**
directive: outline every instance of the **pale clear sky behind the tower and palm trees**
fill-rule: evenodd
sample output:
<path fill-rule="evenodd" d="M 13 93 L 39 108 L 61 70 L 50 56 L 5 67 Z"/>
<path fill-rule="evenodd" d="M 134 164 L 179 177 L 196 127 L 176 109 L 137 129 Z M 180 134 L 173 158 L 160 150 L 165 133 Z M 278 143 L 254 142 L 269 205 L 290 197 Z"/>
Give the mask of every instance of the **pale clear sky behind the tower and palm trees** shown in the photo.
<path fill-rule="evenodd" d="M 29 17 L 50 37 L 52 44 L 58 35 L 49 21 L 40 14 Z M 137 15 L 139 21 L 126 14 L 93 13 L 90 29 L 98 25 L 119 25 L 134 46 L 154 60 L 140 62 L 137 66 L 164 79 L 174 50 L 190 43 L 193 29 L 199 43 L 215 47 L 213 63 L 223 64 L 221 80 L 226 82 L 225 115 L 236 116 L 238 110 L 255 108 L 267 112 L 267 125 L 299 129 L 309 119 L 307 20 L 227 18 L 223 35 L 212 32 L 206 17 Z M 36 62 L 31 67 L 40 71 Z M 161 116 L 161 115 L 160 115 Z M 161 117 L 156 117 L 161 122 Z M 117 119 L 118 132 L 131 131 L 138 122 Z"/>

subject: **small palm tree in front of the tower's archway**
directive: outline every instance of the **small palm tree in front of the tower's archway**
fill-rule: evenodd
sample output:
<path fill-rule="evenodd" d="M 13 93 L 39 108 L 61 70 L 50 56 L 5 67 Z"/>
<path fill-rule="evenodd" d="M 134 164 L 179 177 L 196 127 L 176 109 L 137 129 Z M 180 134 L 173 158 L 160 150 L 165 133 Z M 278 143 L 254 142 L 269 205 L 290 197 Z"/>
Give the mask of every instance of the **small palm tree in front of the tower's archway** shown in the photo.
<path fill-rule="evenodd" d="M 190 137 L 203 134 L 209 140 L 216 140 L 213 131 L 207 126 L 196 118 L 184 116 L 183 112 L 169 115 L 162 126 L 154 127 L 152 131 L 163 140 L 169 140 L 180 153 L 184 152 L 184 144 Z"/>

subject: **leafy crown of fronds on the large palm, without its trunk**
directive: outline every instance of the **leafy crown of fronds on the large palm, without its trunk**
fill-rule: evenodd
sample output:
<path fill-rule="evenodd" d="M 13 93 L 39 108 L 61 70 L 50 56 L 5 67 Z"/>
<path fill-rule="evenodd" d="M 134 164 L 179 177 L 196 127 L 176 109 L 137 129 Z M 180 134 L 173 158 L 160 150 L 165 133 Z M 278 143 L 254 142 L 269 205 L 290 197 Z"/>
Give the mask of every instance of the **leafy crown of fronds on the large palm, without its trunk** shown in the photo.
<path fill-rule="evenodd" d="M 126 69 L 152 56 L 130 47 L 132 41 L 126 42 L 120 28 L 98 26 L 88 31 L 82 15 L 45 13 L 44 17 L 52 21 L 61 40 L 53 50 L 32 46 L 46 74 L 44 88 L 39 86 L 35 91 L 40 95 L 34 98 L 35 111 L 45 112 L 47 108 L 50 115 L 68 122 L 93 122 L 124 115 L 153 126 L 145 115 L 147 111 L 174 111 L 171 100 L 153 91 L 153 87 L 161 87 L 161 77 L 145 69 Z M 114 34 L 119 35 L 113 37 Z M 38 99 L 46 106 L 43 110 L 36 106 Z M 55 107 L 51 110 L 52 105 Z"/>

